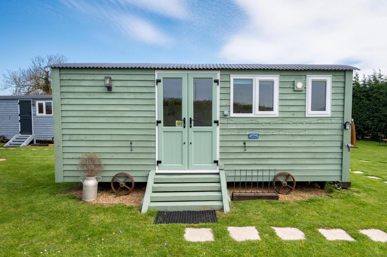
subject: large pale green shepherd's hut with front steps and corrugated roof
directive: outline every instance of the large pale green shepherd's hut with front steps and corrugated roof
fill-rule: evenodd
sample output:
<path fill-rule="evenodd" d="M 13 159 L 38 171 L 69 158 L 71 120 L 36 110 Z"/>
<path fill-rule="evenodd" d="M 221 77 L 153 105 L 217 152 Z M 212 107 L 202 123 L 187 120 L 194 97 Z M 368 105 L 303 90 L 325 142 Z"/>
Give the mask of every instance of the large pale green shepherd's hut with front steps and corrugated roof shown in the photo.
<path fill-rule="evenodd" d="M 226 182 L 282 172 L 349 186 L 352 66 L 50 67 L 57 182 L 79 181 L 79 157 L 96 152 L 102 181 L 147 182 L 142 211 L 228 211 Z"/>

